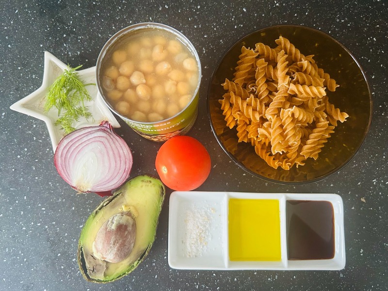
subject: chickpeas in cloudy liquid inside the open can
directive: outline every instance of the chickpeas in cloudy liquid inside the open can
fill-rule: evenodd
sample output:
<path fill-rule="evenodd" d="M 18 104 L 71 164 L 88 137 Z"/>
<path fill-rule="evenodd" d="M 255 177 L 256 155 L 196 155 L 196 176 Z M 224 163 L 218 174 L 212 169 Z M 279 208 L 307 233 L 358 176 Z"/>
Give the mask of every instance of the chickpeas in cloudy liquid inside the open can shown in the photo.
<path fill-rule="evenodd" d="M 160 122 L 188 106 L 199 69 L 176 35 L 144 29 L 111 50 L 100 78 L 104 96 L 118 113 L 136 122 Z"/>

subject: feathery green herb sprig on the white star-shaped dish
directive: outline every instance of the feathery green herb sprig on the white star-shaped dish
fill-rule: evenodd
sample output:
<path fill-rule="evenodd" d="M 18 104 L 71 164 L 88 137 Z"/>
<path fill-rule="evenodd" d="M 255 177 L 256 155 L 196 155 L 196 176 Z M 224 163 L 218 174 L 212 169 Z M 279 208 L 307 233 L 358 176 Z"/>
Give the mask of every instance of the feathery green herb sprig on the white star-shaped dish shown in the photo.
<path fill-rule="evenodd" d="M 55 125 L 64 129 L 65 134 L 75 130 L 73 123 L 78 122 L 81 117 L 85 117 L 86 120 L 93 119 L 84 102 L 92 100 L 86 86 L 94 84 L 85 84 L 80 80 L 76 70 L 81 66 L 76 68 L 67 66 L 67 69 L 54 81 L 46 94 L 44 110 L 48 113 L 53 107 L 58 109 L 59 118 L 55 121 Z"/>

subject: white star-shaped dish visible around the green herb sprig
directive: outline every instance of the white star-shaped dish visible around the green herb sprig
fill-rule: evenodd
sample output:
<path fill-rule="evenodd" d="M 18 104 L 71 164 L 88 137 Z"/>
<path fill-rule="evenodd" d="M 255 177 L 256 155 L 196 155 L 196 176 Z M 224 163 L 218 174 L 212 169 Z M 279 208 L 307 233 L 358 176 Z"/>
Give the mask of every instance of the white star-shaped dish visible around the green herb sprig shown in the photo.
<path fill-rule="evenodd" d="M 56 108 L 52 108 L 47 114 L 44 112 L 44 99 L 49 86 L 51 86 L 55 79 L 57 79 L 66 68 L 67 65 L 58 60 L 48 51 L 45 51 L 45 67 L 42 86 L 30 95 L 12 104 L 10 107 L 12 110 L 41 119 L 46 123 L 47 129 L 49 129 L 51 145 L 54 152 L 58 143 L 64 137 L 65 132 L 58 126 L 54 125 L 55 121 L 58 119 L 58 110 Z M 84 81 L 85 84 L 96 83 L 95 66 L 77 72 L 80 79 Z M 80 121 L 73 124 L 73 126 L 76 129 L 79 129 L 86 126 L 96 126 L 103 120 L 108 120 L 114 128 L 119 128 L 120 124 L 114 118 L 109 108 L 105 105 L 102 97 L 98 94 L 96 85 L 88 85 L 86 86 L 86 89 L 89 91 L 93 100 L 85 102 L 85 106 L 87 106 L 89 112 L 92 113 L 94 120 L 90 118 L 89 120 L 81 118 Z"/>

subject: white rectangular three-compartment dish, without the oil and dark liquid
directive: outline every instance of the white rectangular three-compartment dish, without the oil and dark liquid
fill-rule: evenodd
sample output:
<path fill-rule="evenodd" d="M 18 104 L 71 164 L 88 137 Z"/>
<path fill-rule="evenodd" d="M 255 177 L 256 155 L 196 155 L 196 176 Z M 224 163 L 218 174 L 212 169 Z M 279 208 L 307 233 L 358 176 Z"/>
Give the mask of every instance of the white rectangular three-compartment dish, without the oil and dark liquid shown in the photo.
<path fill-rule="evenodd" d="M 279 200 L 280 261 L 229 260 L 229 198 Z M 332 204 L 335 236 L 333 259 L 288 259 L 287 200 L 317 200 Z M 175 269 L 197 270 L 341 270 L 345 267 L 342 199 L 337 194 L 173 192 L 169 202 L 168 263 Z"/>

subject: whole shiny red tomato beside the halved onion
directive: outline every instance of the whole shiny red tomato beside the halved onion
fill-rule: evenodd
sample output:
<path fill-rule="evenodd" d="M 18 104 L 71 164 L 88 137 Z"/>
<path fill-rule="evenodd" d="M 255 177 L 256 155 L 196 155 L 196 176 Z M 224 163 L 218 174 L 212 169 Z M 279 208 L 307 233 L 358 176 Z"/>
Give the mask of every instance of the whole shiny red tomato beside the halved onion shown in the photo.
<path fill-rule="evenodd" d="M 168 188 L 190 191 L 201 186 L 208 178 L 211 161 L 208 151 L 199 141 L 178 135 L 161 146 L 155 166 Z"/>

